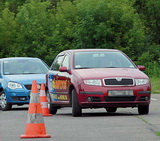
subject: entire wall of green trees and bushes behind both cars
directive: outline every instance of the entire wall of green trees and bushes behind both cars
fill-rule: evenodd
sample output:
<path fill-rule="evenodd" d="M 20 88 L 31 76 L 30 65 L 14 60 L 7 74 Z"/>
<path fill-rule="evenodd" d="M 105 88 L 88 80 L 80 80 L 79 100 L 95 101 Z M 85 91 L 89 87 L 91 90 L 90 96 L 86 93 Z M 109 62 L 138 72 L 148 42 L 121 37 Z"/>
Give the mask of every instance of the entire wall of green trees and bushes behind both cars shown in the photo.
<path fill-rule="evenodd" d="M 66 49 L 119 49 L 159 77 L 159 8 L 159 0 L 3 0 L 0 57 L 50 65 Z"/>

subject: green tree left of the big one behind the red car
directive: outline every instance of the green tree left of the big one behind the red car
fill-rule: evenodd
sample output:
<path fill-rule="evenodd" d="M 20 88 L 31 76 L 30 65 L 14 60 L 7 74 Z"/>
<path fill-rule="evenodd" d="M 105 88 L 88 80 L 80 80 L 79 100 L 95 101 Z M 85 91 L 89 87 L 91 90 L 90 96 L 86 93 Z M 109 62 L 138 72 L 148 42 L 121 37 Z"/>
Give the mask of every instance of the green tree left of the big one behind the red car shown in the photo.
<path fill-rule="evenodd" d="M 39 57 L 45 61 L 52 51 L 52 15 L 49 2 L 30 1 L 19 8 L 17 55 Z"/>

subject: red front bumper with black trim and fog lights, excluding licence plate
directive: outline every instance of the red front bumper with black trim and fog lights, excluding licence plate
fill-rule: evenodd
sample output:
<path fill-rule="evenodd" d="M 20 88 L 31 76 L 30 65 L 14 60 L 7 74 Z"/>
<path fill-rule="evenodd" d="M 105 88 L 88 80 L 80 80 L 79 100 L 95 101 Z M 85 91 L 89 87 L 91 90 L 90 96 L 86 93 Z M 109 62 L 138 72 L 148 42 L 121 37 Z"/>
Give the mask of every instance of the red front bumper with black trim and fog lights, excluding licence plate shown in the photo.
<path fill-rule="evenodd" d="M 111 90 L 132 90 L 133 95 L 109 96 Z M 78 90 L 77 90 L 78 91 Z M 84 108 L 100 107 L 138 107 L 149 105 L 151 98 L 150 85 L 132 87 L 94 87 L 83 85 L 77 92 L 79 105 Z"/>

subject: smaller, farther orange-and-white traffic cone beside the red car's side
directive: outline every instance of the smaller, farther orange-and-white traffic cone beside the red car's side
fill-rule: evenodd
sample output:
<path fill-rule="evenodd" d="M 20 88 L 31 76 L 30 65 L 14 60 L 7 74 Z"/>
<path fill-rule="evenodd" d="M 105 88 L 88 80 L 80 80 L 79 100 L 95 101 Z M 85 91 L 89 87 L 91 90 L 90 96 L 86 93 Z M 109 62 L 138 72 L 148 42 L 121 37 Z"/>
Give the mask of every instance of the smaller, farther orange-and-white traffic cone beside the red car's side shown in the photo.
<path fill-rule="evenodd" d="M 40 90 L 40 103 L 41 103 L 41 107 L 42 107 L 42 114 L 43 116 L 52 116 L 52 114 L 49 113 L 49 109 L 48 109 L 48 101 L 47 101 L 47 97 L 45 94 L 45 88 L 44 88 L 44 83 L 41 84 L 41 90 Z"/>

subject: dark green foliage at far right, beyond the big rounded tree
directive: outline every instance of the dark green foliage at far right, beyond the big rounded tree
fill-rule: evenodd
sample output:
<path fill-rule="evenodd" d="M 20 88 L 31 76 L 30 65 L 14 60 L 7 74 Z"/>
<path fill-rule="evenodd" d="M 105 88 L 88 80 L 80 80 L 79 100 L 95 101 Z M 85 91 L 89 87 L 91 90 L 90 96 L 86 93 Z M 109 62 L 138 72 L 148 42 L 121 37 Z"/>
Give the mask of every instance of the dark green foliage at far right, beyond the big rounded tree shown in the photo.
<path fill-rule="evenodd" d="M 145 50 L 138 62 L 147 66 L 147 74 L 160 76 L 160 1 L 136 0 L 135 7 L 146 26 Z"/>

